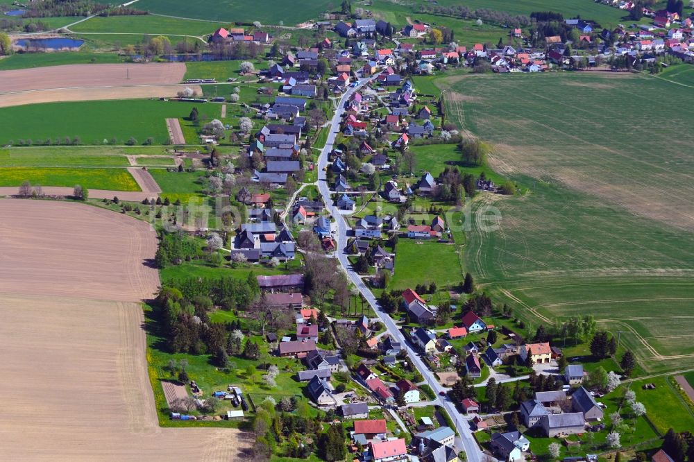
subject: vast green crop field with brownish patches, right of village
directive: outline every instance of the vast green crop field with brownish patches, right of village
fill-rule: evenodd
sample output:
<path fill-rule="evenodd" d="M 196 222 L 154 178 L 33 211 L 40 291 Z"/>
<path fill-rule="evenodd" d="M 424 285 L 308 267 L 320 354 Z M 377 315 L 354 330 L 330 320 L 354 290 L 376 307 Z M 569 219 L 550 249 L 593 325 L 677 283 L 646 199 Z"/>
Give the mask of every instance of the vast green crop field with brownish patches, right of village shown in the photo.
<path fill-rule="evenodd" d="M 498 209 L 499 229 L 469 223 L 466 266 L 527 321 L 591 313 L 622 332 L 646 372 L 694 367 L 694 161 L 683 135 L 694 94 L 650 76 L 534 77 L 448 80 L 458 92 L 447 94 L 449 120 L 491 142 L 491 164 L 530 189 L 475 200 L 476 211 Z"/>

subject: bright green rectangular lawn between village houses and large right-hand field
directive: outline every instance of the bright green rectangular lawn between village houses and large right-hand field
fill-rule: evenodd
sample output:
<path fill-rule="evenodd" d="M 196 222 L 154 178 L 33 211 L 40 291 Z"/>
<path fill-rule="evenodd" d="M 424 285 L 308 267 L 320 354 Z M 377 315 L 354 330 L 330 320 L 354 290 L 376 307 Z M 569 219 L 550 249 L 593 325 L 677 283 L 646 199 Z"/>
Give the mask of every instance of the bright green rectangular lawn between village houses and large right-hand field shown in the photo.
<path fill-rule="evenodd" d="M 462 279 L 455 246 L 400 239 L 395 258 L 395 275 L 389 289 L 407 289 L 432 282 L 440 288 Z"/>

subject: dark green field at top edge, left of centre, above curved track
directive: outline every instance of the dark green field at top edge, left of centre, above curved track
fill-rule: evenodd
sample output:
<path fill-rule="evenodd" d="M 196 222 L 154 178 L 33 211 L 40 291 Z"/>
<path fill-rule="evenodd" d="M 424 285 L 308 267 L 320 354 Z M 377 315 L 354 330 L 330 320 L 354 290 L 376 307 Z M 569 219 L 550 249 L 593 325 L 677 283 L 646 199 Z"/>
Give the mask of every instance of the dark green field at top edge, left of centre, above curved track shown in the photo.
<path fill-rule="evenodd" d="M 257 0 L 254 2 L 232 0 L 202 0 L 190 3 L 185 0 L 141 0 L 137 8 L 162 15 L 183 18 L 208 19 L 217 22 L 254 22 L 294 26 L 307 19 L 313 19 L 328 11 L 328 6 L 337 5 L 328 0 L 310 2 L 288 2 L 280 0 Z"/>

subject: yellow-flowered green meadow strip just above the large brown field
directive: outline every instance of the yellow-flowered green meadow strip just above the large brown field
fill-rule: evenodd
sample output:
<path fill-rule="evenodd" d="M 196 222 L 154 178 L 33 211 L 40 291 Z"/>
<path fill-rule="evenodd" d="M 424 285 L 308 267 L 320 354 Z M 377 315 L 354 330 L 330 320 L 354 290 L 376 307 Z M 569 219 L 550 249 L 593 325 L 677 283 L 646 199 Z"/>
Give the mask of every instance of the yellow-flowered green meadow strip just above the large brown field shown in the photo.
<path fill-rule="evenodd" d="M 35 186 L 82 185 L 87 189 L 140 191 L 135 179 L 126 169 L 0 168 L 0 186 L 19 186 L 24 181 Z"/>

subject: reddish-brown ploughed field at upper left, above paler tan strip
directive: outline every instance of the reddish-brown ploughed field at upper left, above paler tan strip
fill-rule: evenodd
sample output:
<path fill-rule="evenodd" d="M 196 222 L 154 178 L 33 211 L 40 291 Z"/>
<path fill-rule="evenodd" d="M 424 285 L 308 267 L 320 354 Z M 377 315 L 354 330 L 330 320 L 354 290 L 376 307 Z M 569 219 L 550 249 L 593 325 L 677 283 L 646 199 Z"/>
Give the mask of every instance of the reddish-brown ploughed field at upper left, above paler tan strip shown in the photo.
<path fill-rule="evenodd" d="M 135 87 L 180 83 L 183 62 L 144 65 L 104 64 L 35 67 L 0 71 L 0 93 L 74 87 Z"/>

